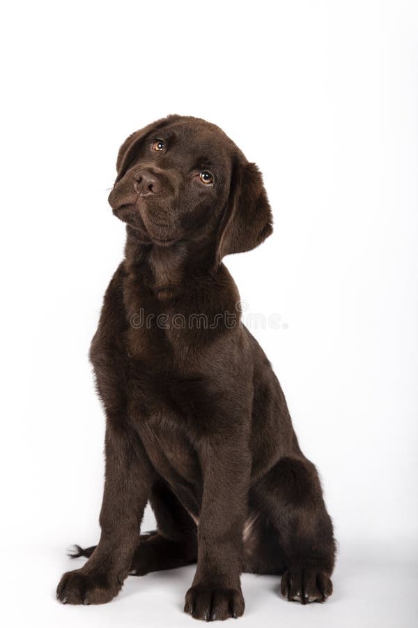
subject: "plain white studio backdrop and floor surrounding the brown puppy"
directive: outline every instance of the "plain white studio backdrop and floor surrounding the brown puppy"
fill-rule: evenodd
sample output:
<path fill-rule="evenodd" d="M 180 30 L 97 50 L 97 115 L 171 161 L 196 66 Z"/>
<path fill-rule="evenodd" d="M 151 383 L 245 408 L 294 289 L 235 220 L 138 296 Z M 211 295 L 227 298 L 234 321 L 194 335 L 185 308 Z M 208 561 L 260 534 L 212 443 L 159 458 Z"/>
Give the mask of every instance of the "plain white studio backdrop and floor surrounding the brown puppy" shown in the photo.
<path fill-rule="evenodd" d="M 169 113 L 221 126 L 261 168 L 275 230 L 226 264 L 272 361 L 339 539 L 334 596 L 244 576 L 240 625 L 417 620 L 417 3 L 9 3 L 1 58 L 0 619 L 192 626 L 193 567 L 62 606 L 98 540 L 104 421 L 87 353 L 124 227 L 119 145 Z M 147 511 L 144 530 L 153 525 Z"/>

